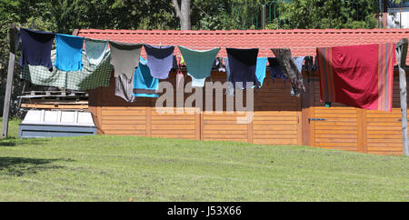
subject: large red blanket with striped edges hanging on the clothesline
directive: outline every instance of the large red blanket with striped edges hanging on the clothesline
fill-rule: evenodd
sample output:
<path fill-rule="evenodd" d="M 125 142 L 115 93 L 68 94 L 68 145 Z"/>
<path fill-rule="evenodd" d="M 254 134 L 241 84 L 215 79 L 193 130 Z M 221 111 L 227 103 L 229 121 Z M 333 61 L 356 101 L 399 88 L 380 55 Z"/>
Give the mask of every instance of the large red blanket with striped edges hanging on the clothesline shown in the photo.
<path fill-rule="evenodd" d="M 316 49 L 321 101 L 392 110 L 394 44 Z"/>

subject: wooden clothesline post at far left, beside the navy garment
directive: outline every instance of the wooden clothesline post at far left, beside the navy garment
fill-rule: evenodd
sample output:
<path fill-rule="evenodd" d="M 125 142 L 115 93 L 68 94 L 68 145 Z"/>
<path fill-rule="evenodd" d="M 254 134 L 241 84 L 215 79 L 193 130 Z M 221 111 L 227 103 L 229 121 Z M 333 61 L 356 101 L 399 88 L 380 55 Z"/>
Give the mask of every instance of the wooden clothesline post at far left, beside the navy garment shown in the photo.
<path fill-rule="evenodd" d="M 2 137 L 7 137 L 8 133 L 8 117 L 10 113 L 10 99 L 13 89 L 13 76 L 15 74 L 15 36 L 17 29 L 15 25 L 10 25 L 8 29 L 8 37 L 10 43 L 10 50 L 8 55 L 8 69 L 7 69 L 7 84 L 5 85 L 5 105 L 3 108 L 3 124 L 2 124 Z"/>

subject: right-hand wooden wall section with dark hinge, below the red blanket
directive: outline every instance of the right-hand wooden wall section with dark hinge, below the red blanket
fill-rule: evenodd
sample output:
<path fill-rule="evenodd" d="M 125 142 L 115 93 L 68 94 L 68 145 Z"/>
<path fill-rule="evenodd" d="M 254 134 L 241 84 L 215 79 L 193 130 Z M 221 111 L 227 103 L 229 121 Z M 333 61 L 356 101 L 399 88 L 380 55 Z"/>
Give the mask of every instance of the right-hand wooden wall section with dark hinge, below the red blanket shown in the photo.
<path fill-rule="evenodd" d="M 304 100 L 304 145 L 377 155 L 402 155 L 403 139 L 399 76 L 395 72 L 393 111 L 375 111 L 320 102 L 319 81 L 314 76 Z M 310 120 L 308 120 L 310 119 Z"/>

